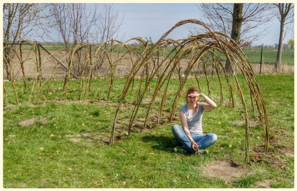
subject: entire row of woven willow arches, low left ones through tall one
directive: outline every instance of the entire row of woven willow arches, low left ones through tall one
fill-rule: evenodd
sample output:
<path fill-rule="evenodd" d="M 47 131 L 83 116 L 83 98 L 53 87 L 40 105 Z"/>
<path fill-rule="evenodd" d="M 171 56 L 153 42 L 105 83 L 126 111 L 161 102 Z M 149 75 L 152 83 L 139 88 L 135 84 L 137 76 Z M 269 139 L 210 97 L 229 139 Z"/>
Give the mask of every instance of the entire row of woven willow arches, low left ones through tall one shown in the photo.
<path fill-rule="evenodd" d="M 185 39 L 179 39 L 179 40 L 173 40 L 170 38 L 166 38 L 168 34 L 170 34 L 174 29 L 177 27 L 180 27 L 181 25 L 187 24 L 187 23 L 194 23 L 199 25 L 200 27 L 203 27 L 205 29 L 205 33 L 190 36 Z M 131 48 L 131 46 L 127 46 L 126 44 L 132 41 L 137 41 L 139 43 L 139 46 L 135 46 Z M 228 88 L 230 90 L 230 102 L 232 102 L 232 105 L 234 107 L 234 91 L 236 91 L 241 99 L 241 104 L 245 116 L 245 127 L 246 127 L 246 161 L 249 160 L 249 116 L 248 116 L 248 109 L 247 109 L 247 103 L 244 99 L 244 95 L 242 92 L 241 84 L 239 83 L 235 70 L 238 70 L 241 72 L 241 74 L 246 79 L 247 85 L 249 87 L 250 92 L 250 98 L 251 98 L 251 108 L 254 112 L 254 102 L 256 103 L 256 108 L 259 113 L 259 118 L 261 120 L 262 126 L 263 126 L 263 132 L 264 132 L 264 138 L 265 138 L 265 151 L 268 151 L 268 139 L 269 139 L 269 125 L 268 125 L 268 116 L 266 111 L 266 103 L 263 97 L 263 93 L 259 87 L 259 84 L 257 83 L 257 79 L 255 77 L 255 74 L 252 70 L 252 67 L 247 60 L 246 56 L 244 55 L 243 51 L 238 45 L 235 45 L 235 43 L 230 43 L 232 39 L 225 35 L 224 33 L 220 32 L 214 32 L 211 31 L 204 23 L 198 21 L 198 20 L 182 20 L 176 25 L 174 25 L 170 30 L 168 30 L 166 33 L 164 33 L 161 38 L 154 44 L 149 44 L 147 41 L 143 41 L 141 38 L 131 38 L 125 42 L 120 42 L 114 39 L 111 39 L 109 41 L 106 41 L 105 43 L 102 43 L 101 45 L 94 45 L 94 44 L 78 44 L 77 46 L 73 47 L 71 51 L 69 51 L 61 60 L 62 62 L 66 63 L 67 65 L 65 68 L 67 69 L 66 75 L 64 77 L 64 100 L 67 99 L 67 91 L 68 91 L 68 84 L 69 81 L 72 79 L 73 76 L 73 66 L 74 64 L 79 60 L 80 63 L 82 63 L 82 72 L 80 73 L 80 83 L 78 87 L 78 99 L 80 99 L 81 94 L 86 99 L 88 96 L 88 90 L 90 89 L 91 80 L 92 77 L 94 77 L 95 72 L 101 66 L 102 64 L 105 65 L 106 68 L 108 68 L 108 74 L 109 74 L 109 90 L 108 90 L 108 100 L 111 97 L 112 94 L 112 88 L 113 88 L 113 81 L 116 77 L 117 69 L 119 63 L 123 59 L 129 59 L 129 62 L 131 65 L 129 66 L 129 70 L 126 73 L 126 81 L 124 83 L 122 95 L 120 98 L 120 101 L 118 103 L 116 114 L 114 116 L 114 120 L 112 123 L 112 130 L 110 133 L 110 143 L 114 141 L 115 136 L 115 130 L 116 130 L 116 122 L 119 118 L 119 111 L 121 110 L 121 106 L 124 103 L 124 99 L 127 96 L 129 89 L 131 89 L 131 86 L 133 85 L 133 82 L 137 76 L 141 76 L 141 79 L 145 78 L 146 82 L 143 85 L 142 91 L 139 92 L 139 94 L 136 97 L 135 100 L 135 107 L 133 109 L 130 121 L 129 121 L 129 129 L 128 132 L 130 133 L 131 127 L 133 125 L 133 122 L 135 120 L 135 117 L 138 113 L 138 109 L 140 107 L 140 104 L 143 101 L 144 95 L 147 91 L 147 89 L 150 86 L 150 82 L 153 78 L 157 77 L 157 85 L 154 89 L 153 97 L 151 98 L 151 101 L 147 107 L 147 114 L 146 119 L 144 122 L 144 128 L 146 128 L 147 121 L 149 119 L 149 113 L 150 110 L 155 102 L 155 99 L 157 98 L 157 95 L 159 95 L 159 90 L 162 87 L 162 99 L 160 102 L 160 109 L 159 109 L 159 118 L 158 123 L 160 123 L 163 107 L 165 105 L 166 101 L 166 95 L 168 91 L 168 87 L 170 84 L 170 79 L 173 77 L 174 71 L 176 69 L 178 70 L 179 63 L 184 58 L 187 58 L 187 67 L 184 68 L 184 71 L 182 72 L 184 77 L 180 77 L 180 84 L 178 85 L 178 88 L 176 90 L 176 97 L 173 101 L 172 109 L 170 116 L 172 117 L 177 109 L 177 103 L 181 96 L 181 91 L 184 88 L 185 82 L 187 80 L 187 77 L 190 75 L 191 72 L 195 69 L 195 66 L 201 65 L 206 78 L 208 78 L 207 72 L 206 72 L 206 66 L 205 66 L 205 57 L 210 56 L 212 63 L 214 64 L 215 71 L 217 72 L 218 81 L 220 83 L 220 89 L 221 89 L 221 95 L 220 95 L 220 103 L 223 101 L 223 95 L 222 95 L 222 82 L 221 82 L 221 76 L 224 76 L 226 79 L 226 82 L 228 84 Z M 37 43 L 34 43 L 31 45 L 35 50 L 39 50 L 39 46 Z M 93 47 L 93 51 L 91 51 L 90 46 Z M 170 46 L 170 49 L 168 47 Z M 36 49 L 37 47 L 37 49 Z M 4 48 L 7 49 L 8 47 Z M 113 54 L 113 49 L 117 48 L 118 55 Z M 84 55 L 80 55 L 78 57 L 78 52 L 81 52 L 81 50 L 84 50 Z M 170 50 L 170 51 L 168 51 Z M 15 51 L 15 50 L 12 50 Z M 123 54 L 120 54 L 123 53 Z M 159 55 L 159 53 L 162 53 L 162 59 L 159 60 L 156 59 L 156 55 Z M 228 72 L 225 70 L 225 66 L 222 63 L 221 59 L 219 58 L 217 52 L 220 52 L 224 54 L 227 58 L 227 61 L 230 63 L 232 72 L 233 72 L 233 84 L 230 82 Z M 37 65 L 38 71 L 42 71 L 42 64 L 40 56 L 38 55 L 38 51 L 35 51 L 35 61 Z M 50 54 L 48 57 L 54 57 L 56 53 Z M 4 58 L 9 58 L 9 55 L 5 55 L 4 52 Z M 7 61 L 4 59 L 4 64 L 11 66 L 11 64 L 8 64 Z M 12 60 L 12 59 L 10 59 Z M 209 59 L 208 59 L 209 60 Z M 20 64 L 23 63 L 22 56 L 18 57 L 18 62 Z M 61 61 L 56 61 L 56 66 L 61 64 Z M 150 69 L 149 69 L 150 68 Z M 20 67 L 20 71 L 23 68 Z M 13 76 L 14 69 L 7 67 L 7 72 L 10 72 L 10 74 Z M 237 72 L 238 72 L 237 71 Z M 40 77 L 37 78 L 36 81 L 36 89 L 39 89 L 35 95 L 35 100 L 38 97 L 39 93 L 41 95 L 41 99 L 46 99 L 48 91 L 50 89 L 50 82 L 53 78 L 55 70 L 53 70 L 53 74 L 47 79 L 49 81 L 48 87 L 45 88 L 45 98 L 42 98 L 42 77 L 41 72 L 39 73 Z M 180 72 L 180 71 L 178 71 Z M 223 72 L 223 75 L 219 75 L 219 72 Z M 22 72 L 24 73 L 24 72 Z M 195 73 L 195 71 L 194 71 Z M 181 76 L 181 73 L 179 73 L 179 76 Z M 76 76 L 75 76 L 76 77 Z M 26 77 L 23 74 L 23 80 L 26 88 Z M 12 79 L 12 84 L 14 84 L 14 80 Z M 199 82 L 198 82 L 199 86 Z M 200 88 L 200 87 L 199 87 Z M 209 89 L 209 87 L 208 87 Z M 15 88 L 14 88 L 15 90 Z M 5 87 L 4 87 L 5 91 Z M 15 90 L 16 91 L 16 90 Z M 29 98 L 29 90 L 27 88 L 28 92 L 28 101 L 31 101 Z M 209 92 L 208 92 L 209 93 Z M 17 101 L 17 95 L 15 92 L 15 99 L 16 103 Z M 170 120 L 171 120 L 170 117 Z"/>

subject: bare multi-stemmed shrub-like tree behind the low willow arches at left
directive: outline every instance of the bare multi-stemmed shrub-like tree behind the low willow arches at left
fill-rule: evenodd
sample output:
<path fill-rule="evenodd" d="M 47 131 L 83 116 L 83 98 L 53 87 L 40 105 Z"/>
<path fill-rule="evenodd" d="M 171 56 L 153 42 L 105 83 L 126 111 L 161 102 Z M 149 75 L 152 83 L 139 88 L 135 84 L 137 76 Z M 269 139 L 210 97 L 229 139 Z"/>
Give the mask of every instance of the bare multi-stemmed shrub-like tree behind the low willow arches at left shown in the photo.
<path fill-rule="evenodd" d="M 104 6 L 105 11 L 99 12 L 99 6 Z M 50 12 L 53 15 L 49 18 L 50 25 L 56 35 L 46 27 L 43 34 L 53 42 L 64 44 L 68 52 L 78 43 L 101 44 L 117 38 L 123 24 L 123 19 L 118 22 L 118 12 L 114 11 L 113 4 L 50 4 Z M 77 76 L 82 74 L 84 68 L 80 63 L 80 57 L 83 56 L 81 54 L 84 52 L 77 52 L 75 56 L 78 62 L 73 65 L 74 74 Z M 96 66 L 101 66 L 103 62 L 100 63 Z M 94 69 L 100 68 L 98 66 Z"/>

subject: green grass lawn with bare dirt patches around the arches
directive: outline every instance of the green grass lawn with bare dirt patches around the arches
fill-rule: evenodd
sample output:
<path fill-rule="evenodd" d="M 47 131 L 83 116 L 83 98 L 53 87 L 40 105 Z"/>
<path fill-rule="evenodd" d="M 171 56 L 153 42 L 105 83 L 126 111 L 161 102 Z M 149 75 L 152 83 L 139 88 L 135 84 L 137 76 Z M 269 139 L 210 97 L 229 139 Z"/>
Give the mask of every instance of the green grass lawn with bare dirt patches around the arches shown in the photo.
<path fill-rule="evenodd" d="M 244 78 L 238 75 L 238 79 L 250 110 Z M 201 91 L 207 95 L 206 80 L 199 80 Z M 178 143 L 171 127 L 175 123 L 180 124 L 178 120 L 168 122 L 164 119 L 165 124 L 149 131 L 135 126 L 134 132 L 124 140 L 116 140 L 110 145 L 102 142 L 109 140 L 124 78 L 116 78 L 110 102 L 105 101 L 108 87 L 103 91 L 103 100 L 97 100 L 98 92 L 107 83 L 104 79 L 92 82 L 88 101 L 76 100 L 78 81 L 72 80 L 68 101 L 61 100 L 63 81 L 54 81 L 48 100 L 34 104 L 27 102 L 23 83 L 17 82 L 20 101 L 17 106 L 14 105 L 11 82 L 5 82 L 9 105 L 3 111 L 3 187 L 256 188 L 257 182 L 266 181 L 272 188 L 293 188 L 294 158 L 285 153 L 294 148 L 294 76 L 258 75 L 257 80 L 267 104 L 270 137 L 274 139 L 271 139 L 268 153 L 257 152 L 255 149 L 259 147 L 256 145 L 263 145 L 263 128 L 255 126 L 250 129 L 250 157 L 258 155 L 261 160 L 250 164 L 246 164 L 244 157 L 245 127 L 231 123 L 244 120 L 241 103 L 236 95 L 236 109 L 225 105 L 229 97 L 224 82 L 224 104 L 220 105 L 219 85 L 215 77 L 210 77 L 210 88 L 218 106 L 204 113 L 203 131 L 216 133 L 218 141 L 208 148 L 208 156 L 199 157 L 173 152 Z M 146 98 L 151 97 L 155 82 L 156 79 L 151 82 Z M 127 131 L 138 83 L 135 80 L 135 86 L 120 110 L 118 127 L 121 128 L 116 130 L 116 135 Z M 172 79 L 165 105 L 167 111 L 170 111 L 177 84 L 178 79 Z M 188 79 L 184 91 L 193 85 L 196 85 L 195 79 Z M 158 103 L 157 98 L 154 109 L 158 109 Z M 181 97 L 178 108 L 184 103 Z M 141 105 L 137 119 L 145 117 L 147 105 Z M 164 111 L 165 118 L 170 114 L 167 111 Z M 256 120 L 258 116 L 252 112 L 249 115 L 251 120 Z M 27 126 L 19 124 L 31 118 L 36 119 L 34 123 Z M 150 120 L 155 121 L 154 114 L 150 115 Z M 74 142 L 71 138 L 80 141 Z M 208 177 L 203 173 L 203 167 L 215 159 L 236 162 L 246 169 L 246 173 L 228 181 L 228 184 L 223 178 Z"/>

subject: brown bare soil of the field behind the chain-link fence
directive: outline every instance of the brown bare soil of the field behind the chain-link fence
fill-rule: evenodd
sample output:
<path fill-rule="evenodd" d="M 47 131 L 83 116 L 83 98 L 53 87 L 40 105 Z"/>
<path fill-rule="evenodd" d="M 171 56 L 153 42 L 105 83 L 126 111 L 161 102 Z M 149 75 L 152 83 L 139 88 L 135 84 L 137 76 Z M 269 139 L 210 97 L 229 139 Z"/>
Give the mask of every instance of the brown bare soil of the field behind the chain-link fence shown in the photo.
<path fill-rule="evenodd" d="M 34 54 L 32 51 L 23 51 L 23 66 L 24 66 L 24 74 L 25 78 L 32 77 L 36 78 L 37 76 L 37 64 L 36 64 L 36 59 L 34 58 Z M 123 56 L 124 53 L 120 53 L 119 55 L 117 53 L 114 53 L 112 55 L 113 60 L 116 60 L 118 56 Z M 53 54 L 54 58 L 56 58 L 60 63 L 56 61 L 52 56 L 50 56 L 46 51 L 41 51 L 41 62 L 42 62 L 42 78 L 43 79 L 49 79 L 52 77 L 54 80 L 55 79 L 61 79 L 66 76 L 66 71 L 67 69 L 67 61 L 65 57 L 65 52 L 57 52 Z M 135 58 L 133 58 L 133 62 L 135 61 Z M 57 66 L 56 66 L 57 65 Z M 62 65 L 65 67 L 62 67 Z M 180 67 L 181 67 L 181 72 L 184 72 L 185 68 L 187 67 L 188 63 L 187 60 L 181 60 L 180 61 Z M 261 74 L 271 74 L 275 73 L 274 72 L 274 65 L 272 64 L 251 64 L 252 68 L 255 72 L 255 74 L 260 74 L 260 67 L 261 67 Z M 54 69 L 56 66 L 56 69 Z M 14 58 L 12 61 L 12 67 L 14 68 L 14 76 L 16 80 L 22 80 L 22 70 L 20 67 L 20 61 L 17 58 Z M 129 58 L 128 55 L 125 55 L 122 57 L 122 59 L 118 62 L 117 66 L 117 76 L 125 76 L 128 74 L 132 67 L 132 60 Z M 208 65 L 207 71 L 209 74 L 212 73 L 212 65 Z M 55 70 L 55 71 L 54 71 Z M 198 75 L 204 75 L 203 69 L 201 65 L 196 68 L 195 70 L 198 71 Z M 109 74 L 109 69 L 108 69 L 108 62 L 106 61 L 105 64 L 101 66 L 99 69 L 100 73 L 99 76 L 106 76 Z M 75 71 L 72 69 L 72 72 L 75 73 Z M 214 70 L 214 73 L 215 70 Z M 294 73 L 294 66 L 290 65 L 284 65 L 281 67 L 281 69 L 277 73 Z M 141 74 L 141 71 L 140 71 Z M 97 76 L 97 74 L 94 74 Z M 3 69 L 3 77 L 4 80 L 6 76 L 6 71 Z M 173 72 L 173 76 L 177 76 L 177 71 Z"/>

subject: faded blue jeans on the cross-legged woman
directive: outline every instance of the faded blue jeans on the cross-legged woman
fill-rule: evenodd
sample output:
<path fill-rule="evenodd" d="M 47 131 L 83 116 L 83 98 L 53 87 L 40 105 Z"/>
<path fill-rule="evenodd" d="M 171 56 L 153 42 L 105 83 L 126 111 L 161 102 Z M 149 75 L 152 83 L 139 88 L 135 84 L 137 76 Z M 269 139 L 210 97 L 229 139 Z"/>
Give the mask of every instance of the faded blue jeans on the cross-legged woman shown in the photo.
<path fill-rule="evenodd" d="M 178 124 L 173 125 L 172 133 L 174 137 L 181 142 L 189 151 L 194 153 L 195 151 L 192 149 L 192 143 L 185 134 L 182 127 Z M 198 135 L 191 133 L 191 137 L 197 143 L 199 149 L 207 148 L 213 145 L 217 141 L 217 135 L 214 133 L 208 133 L 206 135 Z"/>

